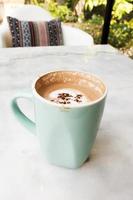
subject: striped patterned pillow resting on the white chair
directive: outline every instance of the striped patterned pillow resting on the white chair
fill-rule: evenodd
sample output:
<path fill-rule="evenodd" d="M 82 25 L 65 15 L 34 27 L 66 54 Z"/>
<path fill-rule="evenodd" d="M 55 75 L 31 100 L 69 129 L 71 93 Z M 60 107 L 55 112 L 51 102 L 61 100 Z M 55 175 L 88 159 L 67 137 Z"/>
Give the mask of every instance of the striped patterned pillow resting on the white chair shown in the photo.
<path fill-rule="evenodd" d="M 63 45 L 61 22 L 51 21 L 19 21 L 7 17 L 12 35 L 13 47 L 57 46 Z"/>

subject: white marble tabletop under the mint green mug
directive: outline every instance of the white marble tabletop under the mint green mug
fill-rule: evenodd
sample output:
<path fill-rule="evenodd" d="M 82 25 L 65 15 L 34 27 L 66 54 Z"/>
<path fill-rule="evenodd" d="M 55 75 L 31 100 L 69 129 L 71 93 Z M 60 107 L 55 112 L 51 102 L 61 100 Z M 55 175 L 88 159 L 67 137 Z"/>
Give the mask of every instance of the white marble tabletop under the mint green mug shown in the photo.
<path fill-rule="evenodd" d="M 53 69 L 99 75 L 109 92 L 91 158 L 70 170 L 47 163 L 16 120 L 14 95 Z M 33 118 L 33 107 L 20 102 Z M 0 49 L 0 200 L 133 199 L 133 61 L 109 45 Z"/>

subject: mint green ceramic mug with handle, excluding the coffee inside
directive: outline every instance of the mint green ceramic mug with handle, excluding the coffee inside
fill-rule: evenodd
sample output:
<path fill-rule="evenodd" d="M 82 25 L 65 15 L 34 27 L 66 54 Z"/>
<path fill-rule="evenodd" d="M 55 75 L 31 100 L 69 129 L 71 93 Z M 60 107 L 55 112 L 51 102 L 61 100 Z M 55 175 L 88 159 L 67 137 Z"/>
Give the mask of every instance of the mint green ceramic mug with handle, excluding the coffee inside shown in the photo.
<path fill-rule="evenodd" d="M 53 82 L 52 82 L 53 81 Z M 85 104 L 57 104 L 39 93 L 43 84 L 75 83 L 92 98 Z M 70 85 L 70 84 L 69 84 Z M 46 90 L 46 89 L 45 89 Z M 36 79 L 32 95 L 23 94 L 12 100 L 12 110 L 17 119 L 34 135 L 37 135 L 44 157 L 57 166 L 80 167 L 90 156 L 103 115 L 107 87 L 97 76 L 85 72 L 53 71 Z M 26 98 L 34 103 L 35 122 L 19 108 L 17 100 Z"/>

